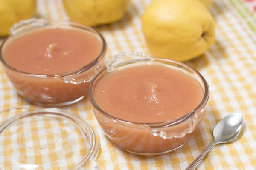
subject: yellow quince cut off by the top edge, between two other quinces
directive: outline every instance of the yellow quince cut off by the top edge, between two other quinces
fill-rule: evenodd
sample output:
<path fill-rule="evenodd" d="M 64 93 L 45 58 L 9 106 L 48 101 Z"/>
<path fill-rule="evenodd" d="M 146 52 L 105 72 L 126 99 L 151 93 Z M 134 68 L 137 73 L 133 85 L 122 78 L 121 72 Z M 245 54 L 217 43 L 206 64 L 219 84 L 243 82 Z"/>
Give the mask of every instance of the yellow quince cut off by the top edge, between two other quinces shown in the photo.
<path fill-rule="evenodd" d="M 63 0 L 70 20 L 88 26 L 113 23 L 127 11 L 129 0 Z"/>

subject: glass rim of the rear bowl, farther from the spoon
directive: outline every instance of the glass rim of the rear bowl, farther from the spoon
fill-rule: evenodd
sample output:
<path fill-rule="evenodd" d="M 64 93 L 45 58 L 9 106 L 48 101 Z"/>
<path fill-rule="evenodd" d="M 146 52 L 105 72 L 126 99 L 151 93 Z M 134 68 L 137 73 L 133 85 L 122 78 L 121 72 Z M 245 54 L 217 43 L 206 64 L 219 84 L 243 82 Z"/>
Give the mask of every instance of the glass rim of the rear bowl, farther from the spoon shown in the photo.
<path fill-rule="evenodd" d="M 32 77 L 56 77 L 56 76 L 72 76 L 74 74 L 79 74 L 79 73 L 82 73 L 84 71 L 87 71 L 89 70 L 90 68 L 92 68 L 93 66 L 95 66 L 98 62 L 99 59 L 101 59 L 105 54 L 106 54 L 106 51 L 107 51 L 107 43 L 105 41 L 105 38 L 102 36 L 102 34 L 96 30 L 96 28 L 93 28 L 93 27 L 90 27 L 90 26 L 86 26 L 86 25 L 83 25 L 83 24 L 80 24 L 80 23 L 75 23 L 75 22 L 71 22 L 71 21 L 64 21 L 64 20 L 58 20 L 58 21 L 48 21 L 48 20 L 45 20 L 45 19 L 35 19 L 35 18 L 32 18 L 32 19 L 28 19 L 28 20 L 21 20 L 19 23 L 16 23 L 16 24 L 22 24 L 24 23 L 25 26 L 26 26 L 26 21 L 29 21 L 29 20 L 35 20 L 35 21 L 44 21 L 45 24 L 44 25 L 38 25 L 38 27 L 36 28 L 32 28 L 32 30 L 34 29 L 38 29 L 38 28 L 47 28 L 47 26 L 52 26 L 52 25 L 57 25 L 58 23 L 66 23 L 68 26 L 71 26 L 71 28 L 79 28 L 79 29 L 84 29 L 84 30 L 88 30 L 90 32 L 93 32 L 95 33 L 97 36 L 99 36 L 100 38 L 100 41 L 102 41 L 102 49 L 101 49 L 101 52 L 100 54 L 92 61 L 90 62 L 89 64 L 87 65 L 84 65 L 83 67 L 81 68 L 77 68 L 75 70 L 72 70 L 72 71 L 67 71 L 67 72 L 63 72 L 63 73 L 56 73 L 56 74 L 32 74 L 32 73 L 27 73 L 27 72 L 24 72 L 24 71 L 20 71 L 16 68 L 13 68 L 12 66 L 10 66 L 6 61 L 5 59 L 3 58 L 3 48 L 4 48 L 4 45 L 6 44 L 6 42 L 13 37 L 13 35 L 9 35 L 8 37 L 6 37 L 6 39 L 3 41 L 3 43 L 0 45 L 0 61 L 3 63 L 3 65 L 14 71 L 14 72 L 17 72 L 18 74 L 22 74 L 22 75 L 26 75 L 26 76 L 32 76 Z M 25 27 L 23 26 L 23 27 Z M 15 24 L 12 26 L 12 28 L 15 27 Z M 12 29 L 11 28 L 11 29 Z M 61 27 L 60 27 L 61 28 Z"/>

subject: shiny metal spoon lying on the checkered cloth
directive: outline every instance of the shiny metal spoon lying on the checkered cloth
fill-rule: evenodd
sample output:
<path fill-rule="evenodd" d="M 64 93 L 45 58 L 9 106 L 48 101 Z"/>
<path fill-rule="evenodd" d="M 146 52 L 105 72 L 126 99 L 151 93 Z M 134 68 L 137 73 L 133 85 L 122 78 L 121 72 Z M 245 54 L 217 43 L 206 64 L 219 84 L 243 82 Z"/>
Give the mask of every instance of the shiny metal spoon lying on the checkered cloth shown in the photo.
<path fill-rule="evenodd" d="M 194 170 L 204 156 L 216 144 L 227 143 L 233 141 L 240 133 L 243 125 L 243 116 L 241 113 L 231 113 L 230 115 L 221 119 L 213 129 L 214 140 L 210 143 L 204 151 L 186 168 L 186 170 Z"/>

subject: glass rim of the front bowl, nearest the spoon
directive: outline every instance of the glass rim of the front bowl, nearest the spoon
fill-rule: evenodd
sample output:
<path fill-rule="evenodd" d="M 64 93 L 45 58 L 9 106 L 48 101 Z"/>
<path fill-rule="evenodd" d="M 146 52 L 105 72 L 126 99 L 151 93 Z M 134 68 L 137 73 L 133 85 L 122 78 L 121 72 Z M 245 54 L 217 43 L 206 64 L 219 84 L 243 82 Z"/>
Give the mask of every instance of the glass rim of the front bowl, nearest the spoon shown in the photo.
<path fill-rule="evenodd" d="M 163 127 L 163 125 L 177 125 L 177 124 L 180 124 L 182 122 L 185 122 L 187 119 L 190 119 L 192 118 L 194 115 L 197 114 L 198 111 L 201 111 L 208 103 L 208 100 L 209 100 L 209 85 L 206 81 L 206 79 L 197 71 L 195 70 L 195 68 L 192 68 L 191 66 L 183 63 L 183 62 L 178 62 L 178 61 L 175 61 L 175 60 L 172 60 L 172 59 L 164 59 L 164 58 L 155 58 L 155 57 L 150 57 L 150 61 L 151 62 L 155 62 L 155 61 L 166 61 L 166 62 L 172 62 L 174 64 L 177 64 L 177 65 L 180 65 L 180 66 L 183 66 L 187 69 L 189 69 L 190 71 L 192 71 L 193 73 L 195 73 L 200 79 L 201 81 L 203 82 L 203 85 L 204 87 L 202 87 L 204 89 L 204 96 L 203 96 L 203 99 L 201 100 L 201 102 L 199 103 L 199 105 L 194 108 L 192 111 L 190 111 L 189 113 L 187 113 L 186 115 L 184 116 L 181 116 L 177 119 L 172 119 L 172 120 L 167 120 L 167 121 L 164 121 L 164 122 L 156 122 L 156 123 L 145 123 L 145 122 L 131 122 L 131 121 L 125 121 L 123 119 L 119 119 L 115 116 L 112 116 L 111 114 L 105 112 L 102 108 L 99 107 L 99 105 L 96 103 L 94 97 L 93 97 L 93 84 L 95 82 L 95 80 L 97 79 L 97 77 L 101 74 L 103 74 L 103 72 L 106 72 L 108 71 L 108 68 L 104 68 L 102 71 L 99 72 L 99 74 L 97 74 L 93 80 L 91 81 L 90 83 L 90 86 L 89 86 L 89 98 L 90 98 L 90 103 L 96 107 L 99 111 L 101 111 L 104 115 L 106 116 L 109 116 L 111 117 L 112 119 L 114 119 L 115 121 L 119 121 L 119 122 L 122 122 L 122 123 L 126 123 L 126 124 L 133 124 L 133 125 L 149 125 L 149 126 L 153 126 L 153 127 Z M 120 64 L 122 65 L 125 65 L 126 63 L 127 64 L 133 64 L 133 63 L 136 63 L 136 62 L 143 62 L 145 60 L 142 60 L 142 59 L 132 59 L 132 60 L 128 60 L 128 61 L 125 61 L 125 62 L 122 62 Z M 121 65 L 121 66 L 122 66 Z M 120 65 L 116 68 L 119 68 Z M 175 66 L 177 67 L 177 66 Z M 198 81 L 198 80 L 197 80 Z M 200 83 L 201 84 L 201 83 Z M 161 125 L 163 124 L 163 125 Z"/>

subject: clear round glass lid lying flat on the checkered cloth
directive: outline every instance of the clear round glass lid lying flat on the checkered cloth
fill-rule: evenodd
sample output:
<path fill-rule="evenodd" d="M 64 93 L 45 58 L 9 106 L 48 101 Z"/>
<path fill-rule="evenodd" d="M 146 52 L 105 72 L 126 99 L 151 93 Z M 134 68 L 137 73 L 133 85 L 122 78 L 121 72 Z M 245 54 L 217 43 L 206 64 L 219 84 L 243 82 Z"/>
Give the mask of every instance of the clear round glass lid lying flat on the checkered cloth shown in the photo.
<path fill-rule="evenodd" d="M 97 169 L 99 136 L 69 111 L 26 111 L 0 125 L 0 170 Z"/>

